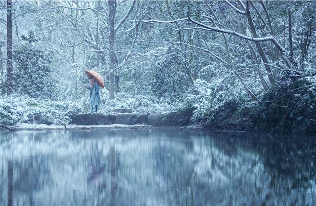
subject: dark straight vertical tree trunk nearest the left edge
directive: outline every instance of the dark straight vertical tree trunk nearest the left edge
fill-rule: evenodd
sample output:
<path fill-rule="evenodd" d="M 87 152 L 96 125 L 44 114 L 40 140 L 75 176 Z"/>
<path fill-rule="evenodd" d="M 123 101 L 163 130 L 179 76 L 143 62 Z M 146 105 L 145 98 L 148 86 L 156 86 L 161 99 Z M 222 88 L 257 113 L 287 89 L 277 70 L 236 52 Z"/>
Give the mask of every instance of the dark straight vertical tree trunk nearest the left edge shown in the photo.
<path fill-rule="evenodd" d="M 7 48 L 7 93 L 11 93 L 12 86 L 12 1 L 6 1 L 6 48 Z"/>

